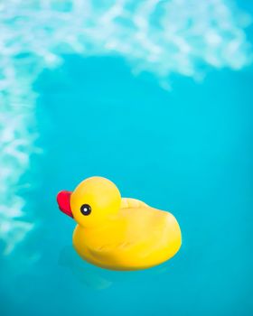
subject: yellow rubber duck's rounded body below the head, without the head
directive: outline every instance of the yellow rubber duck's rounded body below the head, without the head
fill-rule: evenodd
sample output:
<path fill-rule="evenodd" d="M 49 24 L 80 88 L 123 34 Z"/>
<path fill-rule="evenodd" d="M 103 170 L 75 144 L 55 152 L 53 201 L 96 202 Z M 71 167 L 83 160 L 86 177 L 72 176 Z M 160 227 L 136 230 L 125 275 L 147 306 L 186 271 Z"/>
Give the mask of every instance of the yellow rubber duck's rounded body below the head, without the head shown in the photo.
<path fill-rule="evenodd" d="M 171 213 L 121 199 L 117 213 L 103 219 L 102 225 L 77 225 L 73 245 L 91 264 L 112 270 L 145 269 L 175 255 L 181 231 Z"/>

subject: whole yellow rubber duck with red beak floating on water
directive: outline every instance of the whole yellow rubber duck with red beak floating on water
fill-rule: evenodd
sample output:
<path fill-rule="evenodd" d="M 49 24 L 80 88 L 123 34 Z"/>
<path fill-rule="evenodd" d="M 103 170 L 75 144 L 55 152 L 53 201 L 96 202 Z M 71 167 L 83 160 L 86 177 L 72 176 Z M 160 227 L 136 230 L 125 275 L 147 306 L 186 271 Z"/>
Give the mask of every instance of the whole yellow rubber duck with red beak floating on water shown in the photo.
<path fill-rule="evenodd" d="M 159 265 L 181 246 L 181 230 L 169 212 L 121 198 L 106 178 L 91 177 L 73 191 L 57 195 L 59 208 L 78 225 L 73 246 L 93 265 L 111 270 L 140 270 Z"/>

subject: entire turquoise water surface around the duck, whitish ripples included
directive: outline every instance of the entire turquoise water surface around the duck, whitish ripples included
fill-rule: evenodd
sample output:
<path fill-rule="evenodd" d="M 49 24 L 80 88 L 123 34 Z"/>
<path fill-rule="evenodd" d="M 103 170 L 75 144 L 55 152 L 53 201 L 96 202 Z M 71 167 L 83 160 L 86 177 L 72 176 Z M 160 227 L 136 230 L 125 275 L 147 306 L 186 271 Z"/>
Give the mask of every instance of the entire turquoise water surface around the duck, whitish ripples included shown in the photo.
<path fill-rule="evenodd" d="M 67 2 L 61 8 L 54 2 L 53 9 L 49 3 L 23 9 L 36 32 L 45 29 L 43 12 L 66 16 L 66 23 L 50 25 L 53 35 L 42 33 L 44 45 L 34 37 L 28 49 L 23 41 L 10 46 L 14 53 L 2 52 L 1 314 L 252 315 L 252 27 L 243 26 L 252 5 L 213 1 L 215 10 L 200 5 L 192 15 L 184 3 L 184 18 L 173 21 L 170 34 L 188 42 L 192 53 L 179 53 L 168 47 L 176 42 L 166 37 L 168 29 L 155 29 L 166 12 L 161 5 L 118 2 L 113 11 L 103 2 L 100 11 L 85 11 L 86 28 L 97 36 L 80 41 L 74 53 L 74 40 L 69 52 L 56 51 L 54 42 L 67 31 L 80 36 L 81 14 L 75 11 L 73 25 Z M 180 3 L 170 5 L 166 21 Z M 235 5 L 248 14 L 239 19 Z M 127 14 L 119 18 L 122 7 L 137 21 L 148 15 L 148 28 L 143 22 L 137 30 L 154 35 L 148 38 L 163 52 L 156 52 L 156 61 L 150 46 L 138 46 L 132 35 L 125 39 L 132 33 Z M 15 14 L 11 5 L 8 10 Z M 103 13 L 117 34 L 111 28 L 99 33 L 101 26 L 92 24 Z M 189 16 L 197 30 L 207 17 L 225 20 L 229 34 L 208 19 L 206 29 L 215 29 L 222 42 L 218 48 L 200 37 L 194 42 Z M 12 23 L 5 37 L 19 30 Z M 28 24 L 22 25 L 18 32 L 25 33 Z M 116 42 L 112 51 L 108 32 Z M 17 51 L 23 55 L 14 57 Z M 164 265 L 132 273 L 83 262 L 71 247 L 74 222 L 57 209 L 55 195 L 91 175 L 115 181 L 123 196 L 171 210 L 183 232 L 180 252 Z"/>

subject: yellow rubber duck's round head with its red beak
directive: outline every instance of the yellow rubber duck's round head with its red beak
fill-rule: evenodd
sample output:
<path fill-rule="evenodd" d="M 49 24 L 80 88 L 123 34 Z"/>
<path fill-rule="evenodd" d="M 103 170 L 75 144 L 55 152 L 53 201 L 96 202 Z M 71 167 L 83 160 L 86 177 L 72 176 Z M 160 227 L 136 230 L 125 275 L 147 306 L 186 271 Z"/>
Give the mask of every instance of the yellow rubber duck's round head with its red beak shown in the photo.
<path fill-rule="evenodd" d="M 117 214 L 120 207 L 117 186 L 106 178 L 91 177 L 70 191 L 61 191 L 57 202 L 61 211 L 84 228 L 98 227 Z"/>

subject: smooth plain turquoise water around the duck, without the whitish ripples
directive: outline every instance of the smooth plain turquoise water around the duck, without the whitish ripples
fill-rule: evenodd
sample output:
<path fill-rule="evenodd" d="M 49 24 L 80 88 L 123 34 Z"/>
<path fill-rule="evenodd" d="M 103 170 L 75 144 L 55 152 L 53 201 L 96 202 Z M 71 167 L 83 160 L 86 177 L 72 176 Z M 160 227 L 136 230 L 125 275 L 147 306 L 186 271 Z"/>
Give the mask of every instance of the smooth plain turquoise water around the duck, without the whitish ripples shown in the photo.
<path fill-rule="evenodd" d="M 119 54 L 61 58 L 33 82 L 42 153 L 19 194 L 34 228 L 0 257 L 1 315 L 252 315 L 252 66 L 202 64 L 204 79 L 175 73 L 166 90 Z M 179 253 L 139 272 L 82 261 L 55 196 L 92 175 L 170 210 Z"/>

